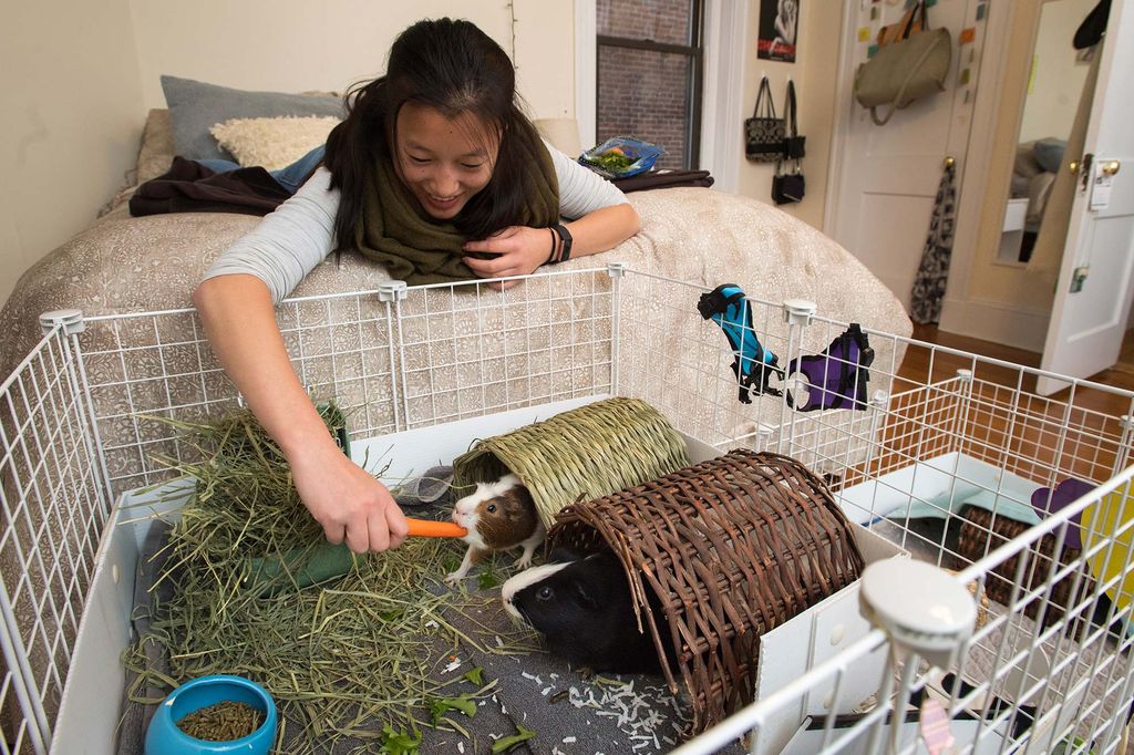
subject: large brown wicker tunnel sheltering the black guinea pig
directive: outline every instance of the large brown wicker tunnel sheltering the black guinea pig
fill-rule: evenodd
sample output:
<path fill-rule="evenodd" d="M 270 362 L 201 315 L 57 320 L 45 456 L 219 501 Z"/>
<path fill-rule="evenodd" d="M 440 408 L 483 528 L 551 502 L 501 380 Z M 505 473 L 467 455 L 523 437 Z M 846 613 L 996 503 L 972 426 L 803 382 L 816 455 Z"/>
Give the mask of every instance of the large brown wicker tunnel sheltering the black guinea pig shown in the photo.
<path fill-rule="evenodd" d="M 678 693 L 679 676 L 692 697 L 694 731 L 752 702 L 762 634 L 863 568 L 822 481 L 794 459 L 748 450 L 569 506 L 548 534 L 549 546 L 603 544 L 626 568 L 670 689 Z M 646 609 L 648 588 L 665 623 Z M 677 669 L 663 642 L 677 650 Z"/>

